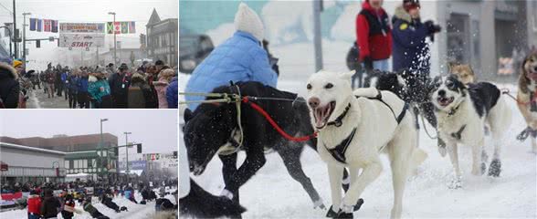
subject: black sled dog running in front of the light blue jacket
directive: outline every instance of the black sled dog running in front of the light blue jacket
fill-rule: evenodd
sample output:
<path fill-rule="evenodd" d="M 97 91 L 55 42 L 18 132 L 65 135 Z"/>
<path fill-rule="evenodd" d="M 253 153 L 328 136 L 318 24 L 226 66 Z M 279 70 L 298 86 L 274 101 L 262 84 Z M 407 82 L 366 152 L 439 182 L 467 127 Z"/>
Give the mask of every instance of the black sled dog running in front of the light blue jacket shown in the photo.
<path fill-rule="evenodd" d="M 239 82 L 236 85 L 216 88 L 213 93 L 240 94 L 241 97 L 262 97 L 272 99 L 298 99 L 279 101 L 257 99 L 255 101 L 266 110 L 271 118 L 291 136 L 304 136 L 313 133 L 308 106 L 296 94 L 264 86 L 258 82 Z M 246 161 L 237 169 L 237 152 L 219 155 L 223 162 L 223 175 L 226 187 L 222 194 L 239 203 L 238 189 L 265 164 L 265 150 L 277 151 L 291 177 L 299 182 L 310 195 L 314 207 L 324 208 L 319 193 L 311 180 L 302 171 L 300 154 L 303 142 L 285 140 L 258 111 L 243 103 L 240 105 L 242 124 L 242 146 L 247 153 Z M 237 144 L 240 133 L 237 121 L 237 105 L 233 103 L 204 103 L 194 112 L 184 112 L 184 143 L 188 153 L 190 171 L 200 175 L 215 154 L 230 142 Z M 239 137 L 240 138 L 240 137 Z M 316 140 L 306 141 L 314 150 Z"/>

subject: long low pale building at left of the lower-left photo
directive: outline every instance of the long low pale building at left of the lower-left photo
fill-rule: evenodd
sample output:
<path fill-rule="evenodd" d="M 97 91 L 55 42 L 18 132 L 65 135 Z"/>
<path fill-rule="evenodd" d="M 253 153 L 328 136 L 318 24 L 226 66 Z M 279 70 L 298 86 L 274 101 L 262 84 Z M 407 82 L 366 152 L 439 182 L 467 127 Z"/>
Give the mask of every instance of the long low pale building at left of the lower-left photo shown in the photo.
<path fill-rule="evenodd" d="M 65 156 L 63 151 L 0 142 L 0 160 L 6 165 L 0 172 L 2 183 L 61 182 Z"/>

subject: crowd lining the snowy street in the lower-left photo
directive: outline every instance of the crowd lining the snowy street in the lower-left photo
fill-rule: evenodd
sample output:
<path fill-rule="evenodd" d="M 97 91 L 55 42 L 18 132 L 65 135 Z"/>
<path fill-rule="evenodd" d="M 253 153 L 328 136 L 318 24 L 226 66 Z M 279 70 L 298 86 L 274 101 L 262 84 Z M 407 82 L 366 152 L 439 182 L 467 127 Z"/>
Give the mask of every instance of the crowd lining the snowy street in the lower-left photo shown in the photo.
<path fill-rule="evenodd" d="M 154 185 L 154 186 L 153 186 Z M 27 197 L 17 200 L 21 206 L 27 207 L 28 219 L 73 218 L 75 214 L 83 214 L 75 208 L 77 203 L 91 217 L 107 219 L 98 208 L 93 206 L 92 198 L 96 197 L 100 203 L 116 213 L 128 211 L 126 206 L 120 206 L 114 202 L 115 198 L 123 197 L 132 203 L 148 204 L 154 202 L 155 212 L 177 211 L 177 198 L 175 191 L 175 204 L 164 198 L 169 194 L 165 188 L 177 189 L 177 178 L 166 179 L 162 183 L 148 183 L 134 181 L 130 183 L 102 183 L 94 181 L 77 181 L 70 183 L 5 183 L 2 193 L 29 193 Z M 90 189 L 89 189 L 90 188 Z M 154 192 L 158 189 L 159 193 Z M 142 200 L 137 201 L 135 193 L 140 193 Z"/>

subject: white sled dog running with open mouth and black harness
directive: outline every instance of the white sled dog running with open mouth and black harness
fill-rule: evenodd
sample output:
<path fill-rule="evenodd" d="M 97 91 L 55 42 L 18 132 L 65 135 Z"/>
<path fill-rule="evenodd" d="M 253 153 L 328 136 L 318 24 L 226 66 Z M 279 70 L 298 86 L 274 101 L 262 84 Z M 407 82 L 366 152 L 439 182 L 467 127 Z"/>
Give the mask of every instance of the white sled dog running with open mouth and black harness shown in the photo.
<path fill-rule="evenodd" d="M 354 204 L 383 171 L 380 154 L 388 154 L 394 186 L 391 216 L 400 218 L 407 175 L 426 159 L 418 149 L 412 112 L 389 91 L 351 89 L 354 71 L 320 71 L 308 80 L 308 105 L 318 134 L 317 150 L 328 165 L 332 208 L 327 216 L 353 217 Z M 342 173 L 351 185 L 342 198 Z M 363 172 L 359 174 L 359 169 Z"/>

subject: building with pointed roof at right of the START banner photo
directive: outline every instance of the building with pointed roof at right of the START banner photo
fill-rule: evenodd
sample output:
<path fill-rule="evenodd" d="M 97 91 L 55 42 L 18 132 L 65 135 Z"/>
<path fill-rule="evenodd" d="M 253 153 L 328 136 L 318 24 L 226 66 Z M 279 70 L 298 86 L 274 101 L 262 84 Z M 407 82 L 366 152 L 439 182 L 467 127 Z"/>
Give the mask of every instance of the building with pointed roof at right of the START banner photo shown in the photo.
<path fill-rule="evenodd" d="M 153 61 L 163 60 L 169 67 L 177 66 L 178 59 L 178 20 L 168 18 L 161 20 L 156 10 L 146 25 L 146 50 Z"/>

